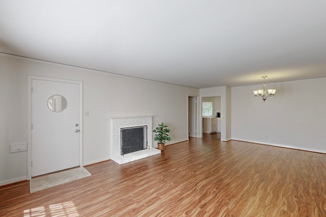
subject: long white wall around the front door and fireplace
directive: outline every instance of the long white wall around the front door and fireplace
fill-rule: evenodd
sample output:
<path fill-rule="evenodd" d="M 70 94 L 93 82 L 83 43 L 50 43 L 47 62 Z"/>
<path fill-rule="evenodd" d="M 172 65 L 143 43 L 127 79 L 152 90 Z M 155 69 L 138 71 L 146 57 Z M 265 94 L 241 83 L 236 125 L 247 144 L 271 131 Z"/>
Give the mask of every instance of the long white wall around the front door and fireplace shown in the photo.
<path fill-rule="evenodd" d="M 83 81 L 84 165 L 111 158 L 108 117 L 155 115 L 153 127 L 164 121 L 172 131 L 167 145 L 188 139 L 188 95 L 199 89 L 9 55 L 0 66 L 0 185 L 26 179 L 27 152 L 9 150 L 27 141 L 28 75 Z"/>

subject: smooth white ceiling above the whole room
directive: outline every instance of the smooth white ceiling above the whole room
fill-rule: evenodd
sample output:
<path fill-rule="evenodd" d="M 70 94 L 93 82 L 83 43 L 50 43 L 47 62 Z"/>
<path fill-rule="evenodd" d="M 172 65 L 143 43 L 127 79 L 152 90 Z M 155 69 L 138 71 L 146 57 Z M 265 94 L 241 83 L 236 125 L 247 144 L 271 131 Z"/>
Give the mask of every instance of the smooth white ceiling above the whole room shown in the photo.
<path fill-rule="evenodd" d="M 0 0 L 0 52 L 205 88 L 326 77 L 324 0 Z"/>

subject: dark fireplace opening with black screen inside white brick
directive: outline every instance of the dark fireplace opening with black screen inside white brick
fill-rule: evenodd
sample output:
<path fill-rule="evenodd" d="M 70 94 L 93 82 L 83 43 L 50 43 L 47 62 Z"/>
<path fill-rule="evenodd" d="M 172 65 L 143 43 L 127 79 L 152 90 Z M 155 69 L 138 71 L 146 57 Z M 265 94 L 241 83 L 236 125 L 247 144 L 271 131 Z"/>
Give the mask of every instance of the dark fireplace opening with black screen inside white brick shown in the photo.
<path fill-rule="evenodd" d="M 121 128 L 121 155 L 147 148 L 147 126 Z"/>

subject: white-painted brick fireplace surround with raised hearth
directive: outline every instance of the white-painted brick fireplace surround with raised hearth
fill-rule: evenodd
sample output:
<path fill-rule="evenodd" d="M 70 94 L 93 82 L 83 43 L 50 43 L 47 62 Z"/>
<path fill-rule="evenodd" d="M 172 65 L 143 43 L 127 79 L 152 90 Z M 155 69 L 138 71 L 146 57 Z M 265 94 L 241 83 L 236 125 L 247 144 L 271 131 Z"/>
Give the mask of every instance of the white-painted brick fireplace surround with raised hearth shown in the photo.
<path fill-rule="evenodd" d="M 125 164 L 139 160 L 155 154 L 160 150 L 152 147 L 152 117 L 154 115 L 143 116 L 122 116 L 110 117 L 111 119 L 111 160 L 118 164 Z M 147 126 L 147 146 L 148 149 L 140 150 L 121 156 L 121 128 Z"/>

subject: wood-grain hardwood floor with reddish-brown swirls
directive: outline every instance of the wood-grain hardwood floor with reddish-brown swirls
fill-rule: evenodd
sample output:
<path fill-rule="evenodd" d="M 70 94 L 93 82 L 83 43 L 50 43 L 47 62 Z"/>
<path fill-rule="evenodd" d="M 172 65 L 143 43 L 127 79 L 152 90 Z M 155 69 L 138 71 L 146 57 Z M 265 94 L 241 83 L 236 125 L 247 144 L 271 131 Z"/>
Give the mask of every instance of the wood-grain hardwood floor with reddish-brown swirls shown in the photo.
<path fill-rule="evenodd" d="M 0 187 L 0 216 L 326 216 L 326 154 L 216 136 L 33 194 Z"/>

